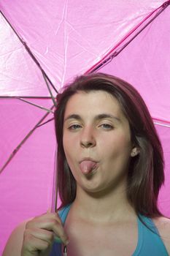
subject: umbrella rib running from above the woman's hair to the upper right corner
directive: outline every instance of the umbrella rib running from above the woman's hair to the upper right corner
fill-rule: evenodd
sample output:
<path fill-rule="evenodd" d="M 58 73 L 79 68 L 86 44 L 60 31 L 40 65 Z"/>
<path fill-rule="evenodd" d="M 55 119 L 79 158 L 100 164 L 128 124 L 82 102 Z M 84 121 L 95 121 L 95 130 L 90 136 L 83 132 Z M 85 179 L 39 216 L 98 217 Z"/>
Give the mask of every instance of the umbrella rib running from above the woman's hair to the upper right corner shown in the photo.
<path fill-rule="evenodd" d="M 131 33 L 129 33 L 127 36 L 125 36 L 114 48 L 112 48 L 112 50 L 109 51 L 109 53 L 107 53 L 107 55 L 101 59 L 101 61 L 98 61 L 98 64 L 94 65 L 92 68 L 88 69 L 87 72 L 85 73 L 93 73 L 93 72 L 96 72 L 98 69 L 101 69 L 101 67 L 104 67 L 105 65 L 109 64 L 109 62 L 112 61 L 112 59 L 114 59 L 119 53 L 121 53 L 121 51 L 126 48 L 130 43 L 131 41 L 133 41 L 144 29 L 146 29 L 146 27 L 148 25 L 150 25 L 150 23 L 152 23 L 153 20 L 155 20 L 155 18 L 158 17 L 158 15 L 161 14 L 161 12 L 163 12 L 168 6 L 170 5 L 170 0 L 169 1 L 166 1 L 165 3 L 163 3 L 161 5 L 161 8 L 156 14 L 155 16 L 150 19 L 143 27 L 142 29 L 140 29 L 136 34 L 134 34 L 134 37 L 131 37 L 131 39 L 128 40 L 128 42 L 126 42 L 122 47 L 120 47 L 118 50 L 115 50 L 113 53 L 112 53 L 112 50 L 116 49 L 123 41 L 125 41 L 125 39 L 127 39 L 136 29 L 139 28 L 139 26 L 142 25 L 142 23 L 144 23 L 145 20 L 147 20 L 147 18 L 150 18 L 150 16 L 158 9 L 154 10 L 150 15 L 147 16 L 147 18 L 144 18 L 144 20 L 142 20 L 141 23 L 139 23 L 138 26 L 136 26 L 136 28 L 134 28 Z M 110 53 L 112 53 L 110 55 Z M 107 57 L 108 56 L 108 57 Z M 107 58 L 107 59 L 106 59 Z"/>

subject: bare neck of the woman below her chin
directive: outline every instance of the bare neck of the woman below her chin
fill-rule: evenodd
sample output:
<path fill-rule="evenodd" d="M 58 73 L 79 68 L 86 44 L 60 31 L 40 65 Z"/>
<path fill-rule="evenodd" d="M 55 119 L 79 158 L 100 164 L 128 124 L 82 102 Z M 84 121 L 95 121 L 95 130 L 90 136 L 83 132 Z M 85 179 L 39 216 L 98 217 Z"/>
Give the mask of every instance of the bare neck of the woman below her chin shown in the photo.
<path fill-rule="evenodd" d="M 128 203 L 125 186 L 109 192 L 90 193 L 77 187 L 77 196 L 73 208 L 82 219 L 91 221 L 117 221 L 136 215 Z"/>

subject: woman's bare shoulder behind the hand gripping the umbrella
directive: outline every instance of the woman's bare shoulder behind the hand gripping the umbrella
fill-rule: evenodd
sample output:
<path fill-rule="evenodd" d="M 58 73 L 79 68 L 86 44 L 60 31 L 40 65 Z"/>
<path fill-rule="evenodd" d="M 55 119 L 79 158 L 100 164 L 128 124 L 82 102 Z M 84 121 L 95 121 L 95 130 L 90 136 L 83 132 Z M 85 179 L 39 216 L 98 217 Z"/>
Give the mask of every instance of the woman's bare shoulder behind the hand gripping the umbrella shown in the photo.
<path fill-rule="evenodd" d="M 18 225 L 18 227 L 15 227 L 15 229 L 12 231 L 7 241 L 7 244 L 4 248 L 4 252 L 2 256 L 20 255 L 22 244 L 23 244 L 23 233 L 26 229 L 27 222 L 28 222 L 28 219 L 20 223 L 20 225 Z"/>

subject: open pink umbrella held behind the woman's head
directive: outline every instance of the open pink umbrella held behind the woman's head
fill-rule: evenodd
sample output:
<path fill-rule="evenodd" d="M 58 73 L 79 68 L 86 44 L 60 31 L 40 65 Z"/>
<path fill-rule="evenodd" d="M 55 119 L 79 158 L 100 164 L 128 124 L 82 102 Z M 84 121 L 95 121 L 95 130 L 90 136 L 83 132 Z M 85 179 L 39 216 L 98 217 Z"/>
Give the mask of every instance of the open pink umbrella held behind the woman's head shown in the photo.
<path fill-rule="evenodd" d="M 147 102 L 166 160 L 160 208 L 170 216 L 169 4 L 0 1 L 0 252 L 19 222 L 55 201 L 50 91 L 55 97 L 75 75 L 100 67 L 128 80 Z"/>

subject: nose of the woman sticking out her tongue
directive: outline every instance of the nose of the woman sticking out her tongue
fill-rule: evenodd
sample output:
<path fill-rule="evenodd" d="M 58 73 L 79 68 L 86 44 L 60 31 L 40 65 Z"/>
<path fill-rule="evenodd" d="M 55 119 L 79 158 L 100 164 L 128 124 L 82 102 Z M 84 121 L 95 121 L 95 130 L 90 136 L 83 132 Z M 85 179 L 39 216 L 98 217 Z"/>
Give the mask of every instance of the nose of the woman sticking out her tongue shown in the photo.
<path fill-rule="evenodd" d="M 80 146 L 82 146 L 82 148 L 93 148 L 96 146 L 94 131 L 90 127 L 86 127 L 82 130 Z"/>

